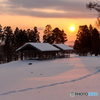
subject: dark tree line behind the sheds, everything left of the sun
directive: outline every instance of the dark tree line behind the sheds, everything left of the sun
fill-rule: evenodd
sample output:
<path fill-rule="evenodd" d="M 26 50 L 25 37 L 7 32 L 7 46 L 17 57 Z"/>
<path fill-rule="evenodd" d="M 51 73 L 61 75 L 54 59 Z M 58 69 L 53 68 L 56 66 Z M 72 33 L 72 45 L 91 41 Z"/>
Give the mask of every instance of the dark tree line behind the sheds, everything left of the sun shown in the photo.
<path fill-rule="evenodd" d="M 51 25 L 47 25 L 43 33 L 43 43 L 53 44 L 67 41 L 66 33 L 58 27 L 52 30 Z M 16 60 L 15 50 L 27 42 L 41 42 L 37 27 L 32 30 L 22 30 L 16 27 L 13 31 L 11 26 L 2 28 L 0 25 L 0 62 Z"/>

